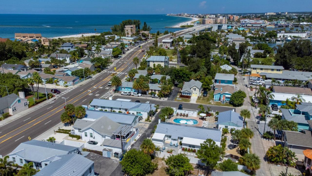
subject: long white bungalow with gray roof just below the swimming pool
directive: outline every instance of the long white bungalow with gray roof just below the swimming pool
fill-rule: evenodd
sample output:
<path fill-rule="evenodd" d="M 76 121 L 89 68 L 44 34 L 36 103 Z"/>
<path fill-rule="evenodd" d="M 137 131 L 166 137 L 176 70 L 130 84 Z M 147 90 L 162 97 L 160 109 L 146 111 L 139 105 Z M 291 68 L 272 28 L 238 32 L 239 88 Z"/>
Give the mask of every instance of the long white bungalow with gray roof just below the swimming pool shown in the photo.
<path fill-rule="evenodd" d="M 206 139 L 212 139 L 218 146 L 221 143 L 222 132 L 214 128 L 194 127 L 177 123 L 158 123 L 152 141 L 156 146 L 175 145 L 180 141 L 182 148 L 200 149 L 200 144 Z"/>

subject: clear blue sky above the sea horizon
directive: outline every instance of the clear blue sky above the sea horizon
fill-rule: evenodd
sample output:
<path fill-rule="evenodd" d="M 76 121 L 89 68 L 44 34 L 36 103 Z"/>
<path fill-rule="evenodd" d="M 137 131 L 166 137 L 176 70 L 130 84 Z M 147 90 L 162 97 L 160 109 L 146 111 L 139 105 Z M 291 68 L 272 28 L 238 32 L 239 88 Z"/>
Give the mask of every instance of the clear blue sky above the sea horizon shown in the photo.
<path fill-rule="evenodd" d="M 167 14 L 312 11 L 312 0 L 1 0 L 0 13 Z"/>

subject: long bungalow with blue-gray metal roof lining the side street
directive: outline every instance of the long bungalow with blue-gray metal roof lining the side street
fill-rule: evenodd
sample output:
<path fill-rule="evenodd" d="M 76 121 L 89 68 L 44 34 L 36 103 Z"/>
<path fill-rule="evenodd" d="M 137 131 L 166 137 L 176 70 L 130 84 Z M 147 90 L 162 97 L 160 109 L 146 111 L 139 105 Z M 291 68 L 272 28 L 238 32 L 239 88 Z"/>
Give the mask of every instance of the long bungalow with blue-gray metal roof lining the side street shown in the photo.
<path fill-rule="evenodd" d="M 103 110 L 103 111 L 115 111 L 125 112 L 147 118 L 151 111 L 155 111 L 155 104 L 105 100 L 105 99 L 93 99 L 90 103 L 89 109 L 91 110 Z"/>

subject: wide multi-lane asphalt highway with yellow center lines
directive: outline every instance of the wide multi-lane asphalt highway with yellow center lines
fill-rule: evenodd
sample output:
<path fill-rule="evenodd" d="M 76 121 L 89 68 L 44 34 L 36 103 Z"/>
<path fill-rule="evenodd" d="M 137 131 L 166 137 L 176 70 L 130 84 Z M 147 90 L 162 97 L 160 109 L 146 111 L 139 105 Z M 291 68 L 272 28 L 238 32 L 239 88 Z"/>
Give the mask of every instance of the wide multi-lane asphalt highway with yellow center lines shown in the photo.
<path fill-rule="evenodd" d="M 202 27 L 201 27 L 202 28 Z M 204 27 L 203 27 L 204 28 Z M 193 29 L 182 30 L 176 32 L 176 37 L 189 33 Z M 168 36 L 167 36 L 168 37 Z M 158 38 L 161 41 L 166 37 Z M 144 44 L 142 49 L 147 50 L 152 41 L 148 44 Z M 132 63 L 132 59 L 138 56 L 139 59 L 143 58 L 145 52 L 141 52 L 141 48 L 136 48 L 133 51 L 120 58 L 119 61 L 115 63 L 116 71 L 120 73 L 128 72 L 129 69 L 135 67 Z M 55 101 L 42 106 L 41 108 L 32 111 L 10 123 L 7 123 L 0 127 L 0 155 L 5 156 L 10 153 L 14 148 L 16 148 L 21 142 L 28 141 L 28 137 L 31 139 L 39 136 L 43 132 L 46 132 L 51 127 L 54 127 L 61 122 L 60 116 L 64 112 L 66 98 L 67 104 L 78 105 L 89 105 L 90 101 L 94 98 L 100 98 L 104 96 L 109 87 L 107 82 L 111 78 L 111 74 L 107 71 L 114 71 L 114 67 L 104 70 L 99 76 L 88 82 L 87 84 L 76 87 L 75 89 L 67 92 L 66 94 L 58 97 Z M 118 76 L 123 79 L 126 74 L 118 74 Z M 106 89 L 107 88 L 107 89 Z M 155 100 L 156 101 L 156 100 Z M 179 103 L 175 102 L 165 102 L 156 101 L 156 104 L 161 106 L 173 106 L 176 107 Z M 154 102 L 153 102 L 154 103 Z M 171 104 L 172 103 L 172 104 Z M 193 105 L 194 107 L 197 105 Z"/>

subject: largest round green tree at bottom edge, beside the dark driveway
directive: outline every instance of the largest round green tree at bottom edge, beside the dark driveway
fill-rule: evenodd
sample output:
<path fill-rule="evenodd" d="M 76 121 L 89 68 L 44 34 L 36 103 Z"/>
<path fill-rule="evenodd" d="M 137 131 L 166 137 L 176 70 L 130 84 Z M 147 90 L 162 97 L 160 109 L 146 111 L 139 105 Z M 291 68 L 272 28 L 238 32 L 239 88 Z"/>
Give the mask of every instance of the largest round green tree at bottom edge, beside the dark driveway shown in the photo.
<path fill-rule="evenodd" d="M 151 174 L 158 167 L 157 164 L 152 162 L 149 155 L 135 149 L 131 149 L 125 153 L 120 164 L 122 166 L 122 171 L 130 176 Z"/>

